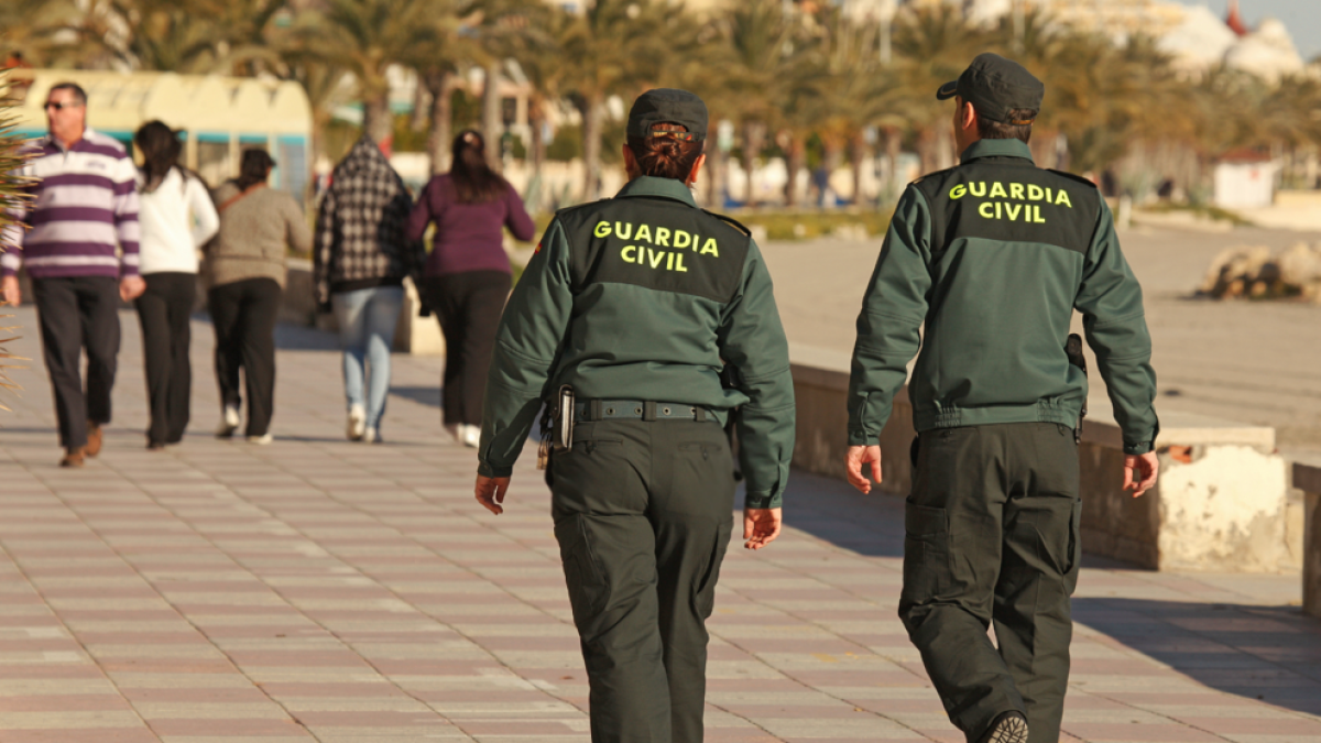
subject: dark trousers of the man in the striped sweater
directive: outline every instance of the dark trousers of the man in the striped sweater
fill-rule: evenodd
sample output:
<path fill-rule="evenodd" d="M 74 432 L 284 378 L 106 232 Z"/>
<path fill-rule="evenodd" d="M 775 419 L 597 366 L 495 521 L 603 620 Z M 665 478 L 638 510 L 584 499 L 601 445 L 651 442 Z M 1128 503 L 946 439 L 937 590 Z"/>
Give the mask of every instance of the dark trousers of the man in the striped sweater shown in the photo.
<path fill-rule="evenodd" d="M 55 398 L 59 444 L 87 446 L 87 424 L 110 423 L 119 357 L 119 282 L 110 276 L 33 279 L 41 350 Z M 83 391 L 82 353 L 87 352 Z"/>

